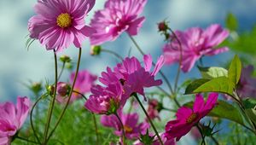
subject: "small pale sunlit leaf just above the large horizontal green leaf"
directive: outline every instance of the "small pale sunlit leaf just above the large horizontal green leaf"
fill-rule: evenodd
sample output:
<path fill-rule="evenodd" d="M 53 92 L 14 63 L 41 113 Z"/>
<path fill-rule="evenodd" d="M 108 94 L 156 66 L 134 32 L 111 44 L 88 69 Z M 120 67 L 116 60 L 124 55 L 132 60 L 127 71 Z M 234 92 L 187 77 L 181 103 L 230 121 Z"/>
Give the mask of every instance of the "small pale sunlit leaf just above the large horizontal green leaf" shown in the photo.
<path fill-rule="evenodd" d="M 202 78 L 218 78 L 218 77 L 228 77 L 228 70 L 223 67 L 198 67 L 201 72 Z"/>

